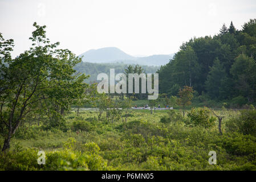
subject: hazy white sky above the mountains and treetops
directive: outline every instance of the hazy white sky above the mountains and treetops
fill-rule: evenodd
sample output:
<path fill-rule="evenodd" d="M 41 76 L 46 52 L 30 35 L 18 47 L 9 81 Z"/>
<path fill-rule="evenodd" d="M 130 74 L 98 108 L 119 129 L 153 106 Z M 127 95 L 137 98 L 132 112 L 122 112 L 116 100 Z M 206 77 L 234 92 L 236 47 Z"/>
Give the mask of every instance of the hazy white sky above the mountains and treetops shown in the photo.
<path fill-rule="evenodd" d="M 31 46 L 32 23 L 51 42 L 79 55 L 117 47 L 130 55 L 177 52 L 194 36 L 215 35 L 223 23 L 241 29 L 256 18 L 256 1 L 14 1 L 0 0 L 0 32 L 14 39 L 14 56 Z"/>

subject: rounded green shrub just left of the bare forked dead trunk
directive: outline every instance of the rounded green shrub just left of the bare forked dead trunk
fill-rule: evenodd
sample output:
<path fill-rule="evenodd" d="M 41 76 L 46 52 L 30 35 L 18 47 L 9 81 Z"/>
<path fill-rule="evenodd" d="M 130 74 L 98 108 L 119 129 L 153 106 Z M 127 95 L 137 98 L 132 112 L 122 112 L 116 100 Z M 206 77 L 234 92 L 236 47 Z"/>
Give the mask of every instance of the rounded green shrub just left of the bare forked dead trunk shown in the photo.
<path fill-rule="evenodd" d="M 212 127 L 216 118 L 210 114 L 211 111 L 207 107 L 198 109 L 193 108 L 190 113 L 188 113 L 188 117 L 190 118 L 190 123 L 188 124 L 193 126 L 203 126 L 205 128 Z"/>

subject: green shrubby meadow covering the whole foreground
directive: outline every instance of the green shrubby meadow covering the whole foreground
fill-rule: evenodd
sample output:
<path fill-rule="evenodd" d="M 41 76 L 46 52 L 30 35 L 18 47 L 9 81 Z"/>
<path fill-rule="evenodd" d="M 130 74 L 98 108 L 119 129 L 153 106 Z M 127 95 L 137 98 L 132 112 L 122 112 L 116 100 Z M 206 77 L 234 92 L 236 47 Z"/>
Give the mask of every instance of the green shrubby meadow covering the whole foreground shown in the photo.
<path fill-rule="evenodd" d="M 181 115 L 180 110 L 175 113 Z M 60 128 L 26 124 L 11 140 L 10 152 L 0 155 L 0 169 L 255 170 L 256 138 L 230 132 L 226 126 L 239 113 L 216 113 L 225 116 L 223 135 L 217 120 L 207 129 L 187 125 L 187 114 L 162 122 L 167 110 L 131 110 L 127 122 L 105 117 L 99 121 L 95 111 L 83 111 L 66 115 Z M 37 164 L 38 151 L 46 152 L 45 165 Z M 210 151 L 216 151 L 216 165 L 208 162 Z"/>

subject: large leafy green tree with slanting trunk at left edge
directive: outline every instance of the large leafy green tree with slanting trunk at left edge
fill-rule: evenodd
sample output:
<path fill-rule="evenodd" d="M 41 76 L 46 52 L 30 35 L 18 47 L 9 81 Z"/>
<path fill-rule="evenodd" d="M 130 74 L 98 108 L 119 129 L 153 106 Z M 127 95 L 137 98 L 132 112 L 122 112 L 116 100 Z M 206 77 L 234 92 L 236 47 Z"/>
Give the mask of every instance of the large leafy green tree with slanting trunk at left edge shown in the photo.
<path fill-rule="evenodd" d="M 9 52 L 13 41 L 1 38 L 1 59 L 8 67 L 1 65 L 1 135 L 5 137 L 2 151 L 10 148 L 10 140 L 26 116 L 35 111 L 40 101 L 51 101 L 48 109 L 61 117 L 59 108 L 67 107 L 68 101 L 79 97 L 86 85 L 85 75 L 74 75 L 74 65 L 81 59 L 68 49 L 56 49 L 59 43 L 50 44 L 46 38 L 46 26 L 39 26 L 32 32 L 32 47 L 15 59 Z M 57 114 L 58 113 L 58 114 Z"/>

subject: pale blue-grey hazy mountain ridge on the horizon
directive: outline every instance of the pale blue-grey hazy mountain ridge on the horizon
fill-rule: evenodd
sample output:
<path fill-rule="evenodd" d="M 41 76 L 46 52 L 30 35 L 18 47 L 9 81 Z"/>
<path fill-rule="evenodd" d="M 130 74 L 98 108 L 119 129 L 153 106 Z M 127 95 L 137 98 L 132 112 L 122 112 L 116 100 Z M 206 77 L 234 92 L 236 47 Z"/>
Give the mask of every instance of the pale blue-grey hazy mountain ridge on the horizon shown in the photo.
<path fill-rule="evenodd" d="M 116 47 L 105 47 L 91 49 L 82 53 L 83 61 L 89 63 L 124 63 L 140 65 L 164 65 L 169 63 L 174 54 L 152 55 L 152 56 L 131 56 Z"/>

